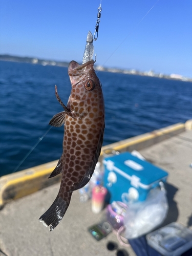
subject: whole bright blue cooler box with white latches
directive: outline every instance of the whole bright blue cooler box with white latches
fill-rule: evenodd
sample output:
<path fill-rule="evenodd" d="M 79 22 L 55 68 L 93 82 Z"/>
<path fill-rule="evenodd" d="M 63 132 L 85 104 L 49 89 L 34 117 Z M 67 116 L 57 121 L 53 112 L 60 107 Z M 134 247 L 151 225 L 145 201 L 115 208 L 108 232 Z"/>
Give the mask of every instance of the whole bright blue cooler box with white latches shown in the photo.
<path fill-rule="evenodd" d="M 110 203 L 127 199 L 144 201 L 148 192 L 159 186 L 160 181 L 165 183 L 168 176 L 164 170 L 128 152 L 104 158 L 103 164 Z"/>

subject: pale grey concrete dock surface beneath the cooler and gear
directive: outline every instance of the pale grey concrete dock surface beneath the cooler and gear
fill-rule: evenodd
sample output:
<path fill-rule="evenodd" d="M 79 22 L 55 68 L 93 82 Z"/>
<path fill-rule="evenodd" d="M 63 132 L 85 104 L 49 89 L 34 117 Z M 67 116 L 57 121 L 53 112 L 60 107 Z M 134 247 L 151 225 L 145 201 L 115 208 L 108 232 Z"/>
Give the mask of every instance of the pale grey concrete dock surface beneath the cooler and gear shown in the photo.
<path fill-rule="evenodd" d="M 192 227 L 192 131 L 185 131 L 139 151 L 147 161 L 163 168 L 169 174 L 167 198 L 169 210 L 163 225 L 179 222 Z M 124 247 L 115 233 L 96 241 L 88 227 L 104 217 L 91 211 L 91 201 L 81 203 L 75 191 L 70 206 L 59 225 L 49 231 L 38 221 L 50 207 L 59 189 L 59 183 L 29 196 L 7 203 L 0 211 L 1 256 L 90 256 L 116 255 L 109 251 L 109 241 L 118 243 L 129 255 L 136 255 L 131 247 Z"/>

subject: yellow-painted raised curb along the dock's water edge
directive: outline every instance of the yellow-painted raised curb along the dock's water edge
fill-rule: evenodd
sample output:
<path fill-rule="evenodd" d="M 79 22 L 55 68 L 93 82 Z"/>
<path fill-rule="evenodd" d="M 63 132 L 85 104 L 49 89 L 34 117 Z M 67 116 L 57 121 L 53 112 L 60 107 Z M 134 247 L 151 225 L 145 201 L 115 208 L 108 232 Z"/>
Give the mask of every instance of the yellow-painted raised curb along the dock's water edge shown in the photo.
<path fill-rule="evenodd" d="M 106 151 L 110 151 L 111 149 L 120 152 L 140 150 L 144 147 L 175 136 L 183 131 L 185 131 L 185 124 L 178 123 L 151 133 L 145 133 L 103 146 L 99 161 L 102 162 Z M 58 160 L 2 176 L 0 178 L 0 208 L 10 200 L 24 197 L 38 191 L 39 189 L 59 182 L 61 179 L 60 175 L 48 179 L 57 162 Z"/>

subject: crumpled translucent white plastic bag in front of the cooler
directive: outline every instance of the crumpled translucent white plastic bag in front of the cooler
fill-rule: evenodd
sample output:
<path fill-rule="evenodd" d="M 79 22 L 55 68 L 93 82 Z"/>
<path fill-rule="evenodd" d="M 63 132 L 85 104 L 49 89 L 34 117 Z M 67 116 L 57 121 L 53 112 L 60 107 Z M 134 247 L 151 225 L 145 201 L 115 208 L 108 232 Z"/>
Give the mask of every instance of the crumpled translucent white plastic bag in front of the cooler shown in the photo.
<path fill-rule="evenodd" d="M 127 206 L 124 218 L 125 237 L 126 239 L 140 237 L 164 221 L 168 211 L 166 190 L 152 189 L 145 201 L 130 202 Z"/>

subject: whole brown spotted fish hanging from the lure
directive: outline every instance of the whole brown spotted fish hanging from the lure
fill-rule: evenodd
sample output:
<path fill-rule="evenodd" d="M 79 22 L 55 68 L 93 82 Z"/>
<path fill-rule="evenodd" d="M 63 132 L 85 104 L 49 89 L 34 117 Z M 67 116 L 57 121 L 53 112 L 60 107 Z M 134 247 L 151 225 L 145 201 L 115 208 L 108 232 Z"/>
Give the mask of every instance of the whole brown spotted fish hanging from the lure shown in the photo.
<path fill-rule="evenodd" d="M 72 192 L 86 185 L 93 175 L 100 155 L 104 132 L 104 101 L 101 84 L 95 74 L 94 61 L 79 66 L 71 61 L 68 74 L 72 84 L 65 111 L 50 121 L 53 126 L 64 123 L 63 153 L 51 177 L 62 173 L 59 193 L 51 207 L 40 217 L 53 230 L 65 214 Z"/>

